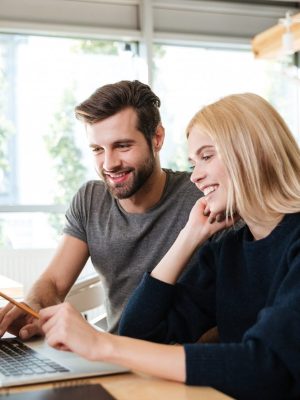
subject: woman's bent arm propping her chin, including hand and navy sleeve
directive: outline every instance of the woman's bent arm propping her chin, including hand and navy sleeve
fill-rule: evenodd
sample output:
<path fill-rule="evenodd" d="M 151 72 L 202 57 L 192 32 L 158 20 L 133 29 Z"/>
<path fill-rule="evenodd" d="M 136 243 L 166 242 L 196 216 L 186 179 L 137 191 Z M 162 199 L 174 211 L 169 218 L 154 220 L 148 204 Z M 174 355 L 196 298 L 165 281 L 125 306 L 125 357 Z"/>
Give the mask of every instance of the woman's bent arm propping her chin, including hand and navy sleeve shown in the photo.
<path fill-rule="evenodd" d="M 197 247 L 226 226 L 205 216 L 205 207 L 203 198 L 196 202 L 173 246 L 151 275 L 144 275 L 122 314 L 121 335 L 184 343 L 197 341 L 216 325 L 215 249 L 209 242 L 184 281 L 176 283 Z"/>

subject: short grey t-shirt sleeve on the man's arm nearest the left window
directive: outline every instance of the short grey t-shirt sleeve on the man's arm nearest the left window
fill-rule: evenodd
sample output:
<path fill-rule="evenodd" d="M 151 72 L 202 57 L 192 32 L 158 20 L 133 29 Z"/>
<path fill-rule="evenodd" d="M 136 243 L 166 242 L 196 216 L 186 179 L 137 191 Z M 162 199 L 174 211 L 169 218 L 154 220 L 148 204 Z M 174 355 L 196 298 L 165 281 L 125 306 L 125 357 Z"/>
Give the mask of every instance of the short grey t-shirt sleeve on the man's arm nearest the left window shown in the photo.
<path fill-rule="evenodd" d="M 74 195 L 66 211 L 63 232 L 87 242 L 86 235 L 86 207 L 88 200 L 88 186 L 83 185 Z"/>

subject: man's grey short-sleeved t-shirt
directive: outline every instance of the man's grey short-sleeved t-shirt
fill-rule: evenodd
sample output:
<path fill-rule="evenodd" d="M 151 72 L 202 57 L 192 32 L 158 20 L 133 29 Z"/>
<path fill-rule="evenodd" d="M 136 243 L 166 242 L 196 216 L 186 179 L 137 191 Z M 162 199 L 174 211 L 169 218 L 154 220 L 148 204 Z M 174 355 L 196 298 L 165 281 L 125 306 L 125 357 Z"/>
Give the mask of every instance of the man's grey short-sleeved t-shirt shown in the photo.
<path fill-rule="evenodd" d="M 201 197 L 190 174 L 165 171 L 160 201 L 143 214 L 124 211 L 101 181 L 83 185 L 66 213 L 64 233 L 88 244 L 101 277 L 111 332 L 116 332 L 127 299 L 143 273 L 165 255 Z"/>

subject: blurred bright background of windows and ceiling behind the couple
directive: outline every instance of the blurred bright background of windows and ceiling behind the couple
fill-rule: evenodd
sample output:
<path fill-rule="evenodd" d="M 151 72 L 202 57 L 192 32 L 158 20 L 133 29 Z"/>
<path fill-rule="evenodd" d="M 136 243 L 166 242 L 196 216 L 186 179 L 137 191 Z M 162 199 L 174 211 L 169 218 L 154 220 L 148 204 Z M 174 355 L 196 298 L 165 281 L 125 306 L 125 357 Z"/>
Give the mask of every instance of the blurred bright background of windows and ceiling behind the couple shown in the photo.
<path fill-rule="evenodd" d="M 99 86 L 151 85 L 167 168 L 187 168 L 187 122 L 230 93 L 269 100 L 300 142 L 299 12 L 292 1 L 0 0 L 0 274 L 32 281 L 72 196 L 97 179 L 74 107 Z"/>

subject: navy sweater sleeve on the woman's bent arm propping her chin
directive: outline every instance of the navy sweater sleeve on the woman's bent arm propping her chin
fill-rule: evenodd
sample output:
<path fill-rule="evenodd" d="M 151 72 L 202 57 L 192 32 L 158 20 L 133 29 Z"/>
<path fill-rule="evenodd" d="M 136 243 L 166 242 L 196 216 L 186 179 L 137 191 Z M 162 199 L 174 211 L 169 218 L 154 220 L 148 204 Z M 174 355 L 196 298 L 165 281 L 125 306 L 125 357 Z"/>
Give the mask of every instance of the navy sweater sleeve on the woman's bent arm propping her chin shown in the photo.
<path fill-rule="evenodd" d="M 215 319 L 215 274 L 209 246 L 176 285 L 145 274 L 123 312 L 119 333 L 159 343 L 195 342 Z M 199 264 L 200 263 L 200 264 Z"/>

